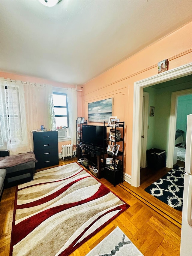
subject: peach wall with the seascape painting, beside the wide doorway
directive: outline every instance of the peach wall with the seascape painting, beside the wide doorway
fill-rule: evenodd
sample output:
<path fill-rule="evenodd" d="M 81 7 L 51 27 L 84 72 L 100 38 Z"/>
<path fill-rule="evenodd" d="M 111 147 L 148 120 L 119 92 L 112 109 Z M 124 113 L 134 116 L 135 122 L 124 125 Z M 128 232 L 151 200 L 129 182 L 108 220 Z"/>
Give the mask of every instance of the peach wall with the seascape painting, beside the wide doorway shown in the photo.
<path fill-rule="evenodd" d="M 132 143 L 134 143 L 132 142 L 134 82 L 156 75 L 157 64 L 164 59 L 169 60 L 169 70 L 192 62 L 191 32 L 192 22 L 83 85 L 81 108 L 85 120 L 88 120 L 88 103 L 114 98 L 113 115 L 120 121 L 125 121 L 125 173 L 130 176 Z"/>

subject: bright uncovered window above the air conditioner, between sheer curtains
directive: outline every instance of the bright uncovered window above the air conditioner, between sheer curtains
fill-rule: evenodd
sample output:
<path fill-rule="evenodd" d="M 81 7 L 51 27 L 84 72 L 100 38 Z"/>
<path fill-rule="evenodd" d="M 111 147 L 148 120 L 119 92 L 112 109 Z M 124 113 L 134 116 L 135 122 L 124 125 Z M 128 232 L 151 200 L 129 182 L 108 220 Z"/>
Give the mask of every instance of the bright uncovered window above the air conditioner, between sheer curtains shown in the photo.
<path fill-rule="evenodd" d="M 67 94 L 61 92 L 53 92 L 53 105 L 55 111 L 56 126 L 69 127 Z"/>

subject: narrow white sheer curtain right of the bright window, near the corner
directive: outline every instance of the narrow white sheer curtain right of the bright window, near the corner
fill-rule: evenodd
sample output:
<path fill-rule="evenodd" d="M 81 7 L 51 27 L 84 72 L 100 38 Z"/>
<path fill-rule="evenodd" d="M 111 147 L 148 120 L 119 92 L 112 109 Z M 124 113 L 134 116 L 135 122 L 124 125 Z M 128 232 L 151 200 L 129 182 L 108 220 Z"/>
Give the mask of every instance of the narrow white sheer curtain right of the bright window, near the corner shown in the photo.
<path fill-rule="evenodd" d="M 75 88 L 68 88 L 67 101 L 69 109 L 69 129 L 71 135 L 71 143 L 76 145 L 77 92 Z"/>

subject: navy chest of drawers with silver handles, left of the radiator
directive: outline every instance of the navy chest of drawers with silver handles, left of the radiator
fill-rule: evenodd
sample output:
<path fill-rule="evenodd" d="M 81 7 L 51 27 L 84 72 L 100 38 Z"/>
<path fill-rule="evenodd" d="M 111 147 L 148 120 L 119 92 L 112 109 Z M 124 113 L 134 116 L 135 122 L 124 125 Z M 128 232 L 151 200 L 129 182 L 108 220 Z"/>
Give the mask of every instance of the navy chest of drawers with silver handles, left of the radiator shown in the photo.
<path fill-rule="evenodd" d="M 58 131 L 33 132 L 35 169 L 58 165 Z"/>

